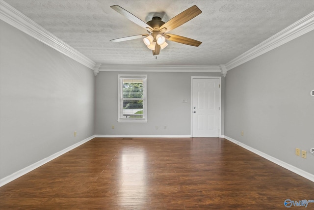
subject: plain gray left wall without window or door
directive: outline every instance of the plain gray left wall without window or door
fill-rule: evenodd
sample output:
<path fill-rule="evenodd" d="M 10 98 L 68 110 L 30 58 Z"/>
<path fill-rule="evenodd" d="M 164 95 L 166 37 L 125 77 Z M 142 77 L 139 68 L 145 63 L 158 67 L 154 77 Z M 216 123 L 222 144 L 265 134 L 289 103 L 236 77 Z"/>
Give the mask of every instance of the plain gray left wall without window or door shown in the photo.
<path fill-rule="evenodd" d="M 4 178 L 94 135 L 95 78 L 91 69 L 2 21 L 0 46 Z"/>

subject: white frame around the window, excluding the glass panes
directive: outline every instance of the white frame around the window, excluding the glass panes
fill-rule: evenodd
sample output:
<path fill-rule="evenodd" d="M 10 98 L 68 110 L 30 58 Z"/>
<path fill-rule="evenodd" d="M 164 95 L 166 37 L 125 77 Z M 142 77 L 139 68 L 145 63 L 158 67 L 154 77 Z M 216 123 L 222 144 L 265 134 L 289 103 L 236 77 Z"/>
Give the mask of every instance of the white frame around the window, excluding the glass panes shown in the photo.
<path fill-rule="evenodd" d="M 123 79 L 144 80 L 143 118 L 120 118 L 121 110 L 123 110 L 123 107 L 121 109 L 121 99 L 123 100 Z M 147 122 L 147 74 L 118 74 L 118 122 Z"/>

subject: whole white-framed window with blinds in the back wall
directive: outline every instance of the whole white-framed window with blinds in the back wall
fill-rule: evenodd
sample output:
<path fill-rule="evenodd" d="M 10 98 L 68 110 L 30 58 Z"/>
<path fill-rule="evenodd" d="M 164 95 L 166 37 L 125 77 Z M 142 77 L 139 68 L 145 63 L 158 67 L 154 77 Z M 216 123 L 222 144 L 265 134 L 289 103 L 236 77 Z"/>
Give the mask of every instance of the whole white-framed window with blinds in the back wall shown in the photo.
<path fill-rule="evenodd" d="M 147 122 L 147 75 L 119 75 L 118 122 Z"/>

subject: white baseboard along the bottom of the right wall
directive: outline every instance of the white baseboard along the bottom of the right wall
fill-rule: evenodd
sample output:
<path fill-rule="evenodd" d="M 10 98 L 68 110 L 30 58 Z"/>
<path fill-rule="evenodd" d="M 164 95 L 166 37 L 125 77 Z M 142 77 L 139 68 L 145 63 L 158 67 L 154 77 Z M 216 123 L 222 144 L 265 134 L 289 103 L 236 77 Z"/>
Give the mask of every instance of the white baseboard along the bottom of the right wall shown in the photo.
<path fill-rule="evenodd" d="M 224 138 L 229 140 L 229 141 L 231 141 L 231 142 L 233 142 L 233 143 L 235 143 L 235 144 L 237 144 L 238 146 L 240 146 L 240 147 L 242 147 L 242 148 L 244 148 L 246 150 L 252 151 L 252 152 L 254 152 L 257 155 L 260 155 L 261 157 L 263 157 L 263 158 L 265 158 L 265 159 L 267 159 L 267 160 L 269 160 L 269 161 L 271 161 L 273 163 L 276 163 L 277 165 L 279 165 L 279 166 L 281 166 L 281 167 L 283 167 L 285 169 L 288 169 L 289 171 L 291 171 L 291 172 L 293 172 L 295 174 L 298 174 L 298 175 L 300 175 L 300 176 L 302 176 L 302 177 L 304 177 L 304 178 L 314 182 L 314 175 L 310 174 L 309 172 L 303 171 L 302 169 L 299 169 L 299 168 L 297 168 L 295 166 L 292 166 L 292 165 L 290 165 L 290 164 L 288 164 L 288 163 L 286 163 L 284 161 L 281 161 L 281 160 L 279 160 L 279 159 L 277 159 L 275 157 L 272 157 L 272 156 L 270 156 L 270 155 L 268 155 L 268 154 L 266 154 L 266 153 L 264 153 L 264 152 L 262 152 L 260 150 L 256 150 L 254 148 L 251 148 L 251 147 L 249 147 L 249 146 L 247 146 L 247 145 L 245 145 L 245 144 L 243 144 L 241 142 L 238 142 L 235 139 L 232 139 L 232 138 L 230 138 L 228 136 L 224 136 Z"/>

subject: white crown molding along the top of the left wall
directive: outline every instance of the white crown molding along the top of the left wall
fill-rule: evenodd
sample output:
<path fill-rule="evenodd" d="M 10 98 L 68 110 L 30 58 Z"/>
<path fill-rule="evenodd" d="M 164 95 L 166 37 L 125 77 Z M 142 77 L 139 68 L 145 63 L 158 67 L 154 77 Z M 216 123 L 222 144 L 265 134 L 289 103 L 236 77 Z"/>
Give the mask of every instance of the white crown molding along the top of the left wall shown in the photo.
<path fill-rule="evenodd" d="M 93 60 L 90 60 L 3 0 L 0 0 L 0 20 L 25 32 L 31 37 L 43 42 L 71 59 L 78 61 L 86 67 L 94 69 L 96 63 Z"/>

